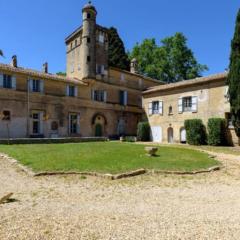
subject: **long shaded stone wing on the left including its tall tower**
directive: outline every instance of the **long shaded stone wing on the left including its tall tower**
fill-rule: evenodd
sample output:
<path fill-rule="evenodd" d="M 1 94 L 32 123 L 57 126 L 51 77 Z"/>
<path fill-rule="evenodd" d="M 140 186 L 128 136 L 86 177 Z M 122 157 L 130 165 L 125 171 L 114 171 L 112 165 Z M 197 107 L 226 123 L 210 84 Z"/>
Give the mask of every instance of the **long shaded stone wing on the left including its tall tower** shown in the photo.
<path fill-rule="evenodd" d="M 108 66 L 108 29 L 91 4 L 66 38 L 67 76 L 0 64 L 0 138 L 135 135 L 142 91 L 157 80 Z"/>

